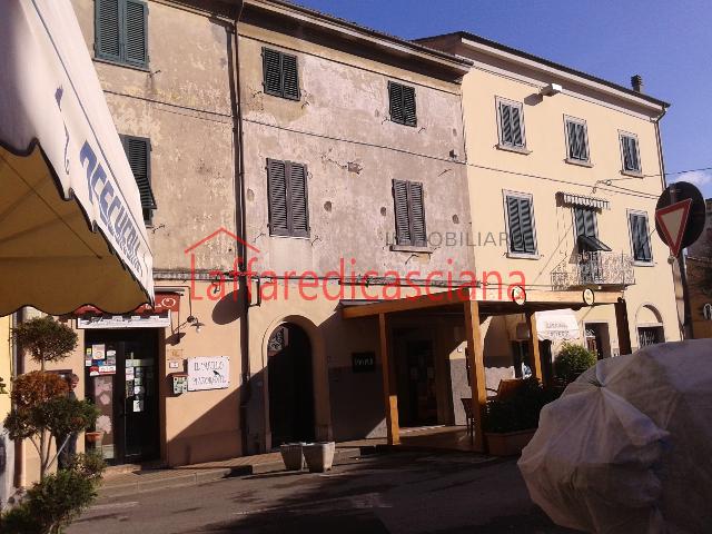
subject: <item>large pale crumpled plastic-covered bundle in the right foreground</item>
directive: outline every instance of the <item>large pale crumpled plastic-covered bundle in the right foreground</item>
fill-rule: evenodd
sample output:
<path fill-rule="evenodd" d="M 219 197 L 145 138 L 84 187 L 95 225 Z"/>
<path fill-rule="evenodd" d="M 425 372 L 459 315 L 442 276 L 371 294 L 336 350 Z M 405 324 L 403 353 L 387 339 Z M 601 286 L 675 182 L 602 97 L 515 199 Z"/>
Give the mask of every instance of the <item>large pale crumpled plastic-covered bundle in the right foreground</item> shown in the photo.
<path fill-rule="evenodd" d="M 712 532 L 712 339 L 601 360 L 545 406 L 520 469 L 560 525 Z"/>

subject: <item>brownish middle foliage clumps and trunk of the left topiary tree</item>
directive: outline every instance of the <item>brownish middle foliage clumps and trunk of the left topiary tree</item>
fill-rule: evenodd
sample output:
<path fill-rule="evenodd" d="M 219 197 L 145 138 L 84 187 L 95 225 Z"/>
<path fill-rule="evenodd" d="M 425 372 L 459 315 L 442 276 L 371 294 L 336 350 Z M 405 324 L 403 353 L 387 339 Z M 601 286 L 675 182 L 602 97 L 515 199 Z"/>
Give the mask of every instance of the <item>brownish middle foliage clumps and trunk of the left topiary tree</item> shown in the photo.
<path fill-rule="evenodd" d="M 11 439 L 29 439 L 40 456 L 40 478 L 57 461 L 71 434 L 85 431 L 99 412 L 87 400 L 67 396 L 68 385 L 59 376 L 42 370 L 20 375 L 14 380 L 13 407 L 4 419 Z M 52 455 L 52 443 L 56 452 Z"/>

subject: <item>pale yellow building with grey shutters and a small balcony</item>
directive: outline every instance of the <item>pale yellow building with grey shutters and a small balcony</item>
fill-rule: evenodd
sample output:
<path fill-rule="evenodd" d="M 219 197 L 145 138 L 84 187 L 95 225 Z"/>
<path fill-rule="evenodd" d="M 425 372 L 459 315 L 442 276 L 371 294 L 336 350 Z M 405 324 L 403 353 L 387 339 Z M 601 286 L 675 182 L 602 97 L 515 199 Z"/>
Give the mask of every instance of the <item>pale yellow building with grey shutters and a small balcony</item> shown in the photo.
<path fill-rule="evenodd" d="M 620 294 L 631 349 L 680 339 L 669 253 L 654 231 L 669 105 L 639 76 L 621 87 L 466 32 L 419 42 L 473 61 L 463 110 L 476 270 L 521 271 L 527 291 Z M 488 387 L 517 372 L 526 336 L 518 319 L 496 320 Z M 567 337 L 599 357 L 627 352 L 613 305 L 583 307 L 575 320 Z"/>

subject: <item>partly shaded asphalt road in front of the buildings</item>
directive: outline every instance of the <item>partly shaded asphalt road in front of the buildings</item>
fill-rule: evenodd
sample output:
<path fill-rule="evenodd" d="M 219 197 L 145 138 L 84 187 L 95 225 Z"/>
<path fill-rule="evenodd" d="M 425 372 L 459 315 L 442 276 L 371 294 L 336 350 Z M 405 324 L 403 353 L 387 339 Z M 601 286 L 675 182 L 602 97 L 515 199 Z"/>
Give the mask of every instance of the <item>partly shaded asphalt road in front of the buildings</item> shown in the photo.
<path fill-rule="evenodd" d="M 530 500 L 514 461 L 397 453 L 325 474 L 270 473 L 99 501 L 69 534 L 571 533 Z"/>

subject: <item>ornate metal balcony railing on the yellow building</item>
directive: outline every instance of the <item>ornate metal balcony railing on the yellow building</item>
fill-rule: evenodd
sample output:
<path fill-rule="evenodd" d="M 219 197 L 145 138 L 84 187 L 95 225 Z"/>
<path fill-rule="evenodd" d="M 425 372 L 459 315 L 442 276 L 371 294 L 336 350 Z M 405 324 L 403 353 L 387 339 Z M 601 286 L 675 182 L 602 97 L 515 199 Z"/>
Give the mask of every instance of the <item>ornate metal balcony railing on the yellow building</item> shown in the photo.
<path fill-rule="evenodd" d="M 552 287 L 631 286 L 635 284 L 633 259 L 617 253 L 578 253 L 552 270 Z"/>

